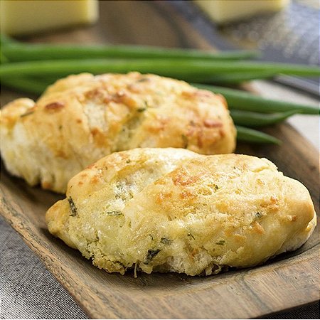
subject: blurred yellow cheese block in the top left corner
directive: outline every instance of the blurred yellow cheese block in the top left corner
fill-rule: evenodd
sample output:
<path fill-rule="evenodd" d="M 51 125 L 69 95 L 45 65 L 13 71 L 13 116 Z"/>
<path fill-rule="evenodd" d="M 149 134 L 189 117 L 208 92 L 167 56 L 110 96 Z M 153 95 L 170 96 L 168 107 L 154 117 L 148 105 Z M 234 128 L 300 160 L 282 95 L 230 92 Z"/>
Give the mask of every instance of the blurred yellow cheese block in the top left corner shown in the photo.
<path fill-rule="evenodd" d="M 50 31 L 98 18 L 97 0 L 1 0 L 1 33 L 19 36 Z"/>

